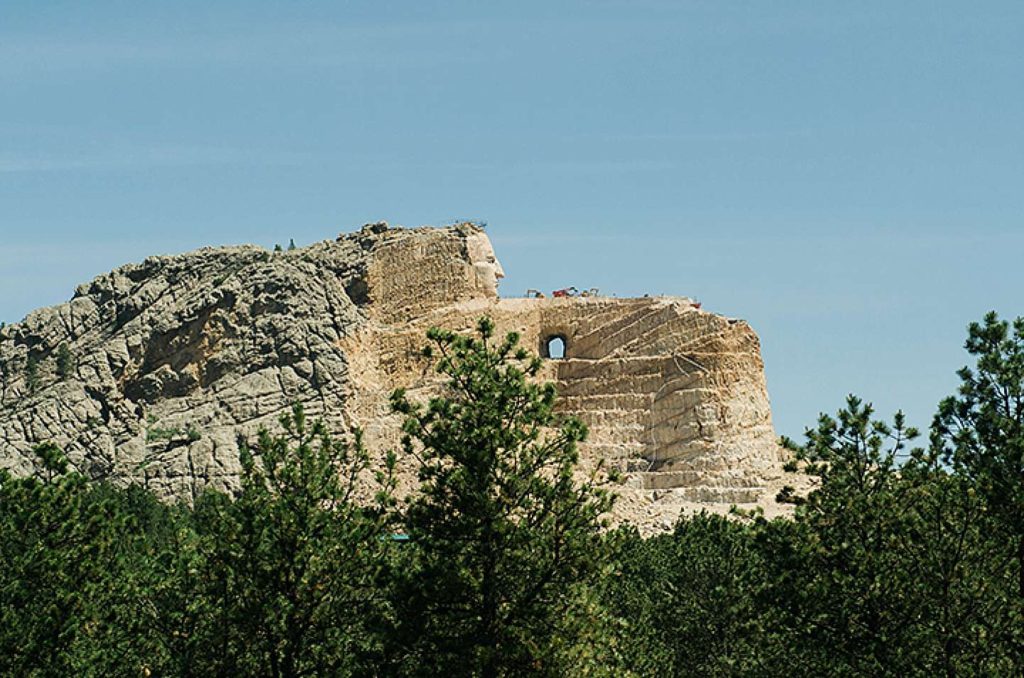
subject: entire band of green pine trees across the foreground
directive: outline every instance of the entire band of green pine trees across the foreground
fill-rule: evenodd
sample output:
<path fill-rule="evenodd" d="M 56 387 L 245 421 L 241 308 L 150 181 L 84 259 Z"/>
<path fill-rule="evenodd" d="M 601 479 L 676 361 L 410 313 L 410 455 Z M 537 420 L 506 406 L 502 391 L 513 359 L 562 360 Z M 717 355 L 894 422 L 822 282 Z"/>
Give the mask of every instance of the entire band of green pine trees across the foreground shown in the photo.
<path fill-rule="evenodd" d="M 0 472 L 0 674 L 1005 676 L 1024 672 L 1024 319 L 968 331 L 923 436 L 850 396 L 788 470 L 794 515 L 611 528 L 518 337 L 432 330 L 375 464 L 296 407 L 191 505 L 93 481 L 52 444 Z M 419 486 L 395 497 L 397 455 Z M 362 491 L 375 488 L 375 496 Z"/>

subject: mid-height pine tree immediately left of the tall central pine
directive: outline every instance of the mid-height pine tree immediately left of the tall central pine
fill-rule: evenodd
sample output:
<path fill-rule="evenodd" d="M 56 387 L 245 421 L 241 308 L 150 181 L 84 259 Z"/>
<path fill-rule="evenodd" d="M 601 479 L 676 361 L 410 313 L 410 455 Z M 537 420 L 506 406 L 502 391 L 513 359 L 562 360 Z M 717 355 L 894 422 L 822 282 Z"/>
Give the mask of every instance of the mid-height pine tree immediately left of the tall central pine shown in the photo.
<path fill-rule="evenodd" d="M 197 509 L 212 610 L 197 651 L 208 673 L 365 673 L 379 642 L 370 629 L 382 600 L 391 465 L 378 472 L 377 501 L 360 503 L 370 464 L 361 436 L 335 439 L 301 406 L 281 421 L 283 434 L 241 443 L 239 496 Z"/>

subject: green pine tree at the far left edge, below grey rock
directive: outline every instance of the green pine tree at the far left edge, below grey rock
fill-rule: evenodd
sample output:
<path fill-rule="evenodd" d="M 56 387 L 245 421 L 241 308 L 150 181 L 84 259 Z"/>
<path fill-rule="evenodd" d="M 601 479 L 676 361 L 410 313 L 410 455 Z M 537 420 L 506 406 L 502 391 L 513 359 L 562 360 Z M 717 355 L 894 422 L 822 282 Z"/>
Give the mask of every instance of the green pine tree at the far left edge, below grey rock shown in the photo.
<path fill-rule="evenodd" d="M 137 675 L 130 516 L 59 448 L 35 453 L 34 475 L 0 470 L 0 674 Z"/>

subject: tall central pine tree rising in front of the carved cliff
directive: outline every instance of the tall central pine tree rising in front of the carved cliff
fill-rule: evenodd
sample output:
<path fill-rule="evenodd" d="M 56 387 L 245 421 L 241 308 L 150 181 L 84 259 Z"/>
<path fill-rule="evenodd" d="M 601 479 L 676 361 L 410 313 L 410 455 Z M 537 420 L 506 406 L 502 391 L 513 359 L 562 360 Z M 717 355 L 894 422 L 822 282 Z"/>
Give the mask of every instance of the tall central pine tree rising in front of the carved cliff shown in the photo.
<path fill-rule="evenodd" d="M 581 637 L 599 616 L 589 585 L 606 564 L 598 533 L 612 496 L 597 471 L 578 479 L 587 429 L 554 413 L 554 386 L 535 383 L 541 359 L 514 333 L 493 343 L 487 319 L 477 331 L 428 333 L 444 394 L 426 406 L 392 395 L 421 482 L 403 514 L 411 562 L 395 601 L 403 668 L 579 675 L 581 644 L 602 649 Z"/>

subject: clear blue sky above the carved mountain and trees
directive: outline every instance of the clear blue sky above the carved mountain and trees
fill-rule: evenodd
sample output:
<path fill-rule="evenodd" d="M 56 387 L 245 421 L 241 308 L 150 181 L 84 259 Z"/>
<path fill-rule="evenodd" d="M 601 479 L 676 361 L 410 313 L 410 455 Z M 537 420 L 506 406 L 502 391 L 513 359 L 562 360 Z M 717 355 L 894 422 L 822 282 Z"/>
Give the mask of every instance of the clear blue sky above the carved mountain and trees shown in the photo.
<path fill-rule="evenodd" d="M 1024 3 L 0 3 L 0 320 L 150 254 L 487 221 L 503 291 L 759 332 L 927 425 L 1024 314 Z"/>

